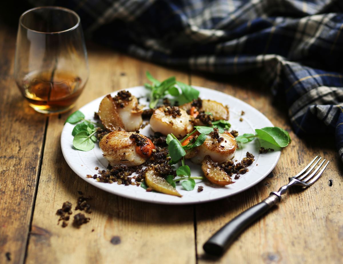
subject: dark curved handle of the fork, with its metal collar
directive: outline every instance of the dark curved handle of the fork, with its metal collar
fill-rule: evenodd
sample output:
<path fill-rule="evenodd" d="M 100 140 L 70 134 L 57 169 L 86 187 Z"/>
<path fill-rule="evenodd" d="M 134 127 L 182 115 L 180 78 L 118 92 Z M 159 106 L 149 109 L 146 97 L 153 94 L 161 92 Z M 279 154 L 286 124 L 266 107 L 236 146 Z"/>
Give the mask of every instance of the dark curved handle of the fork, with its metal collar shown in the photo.
<path fill-rule="evenodd" d="M 220 256 L 228 248 L 230 243 L 238 237 L 251 223 L 276 203 L 280 201 L 281 196 L 271 193 L 261 203 L 250 207 L 240 215 L 236 216 L 220 230 L 218 230 L 203 246 L 204 251 L 211 255 Z"/>

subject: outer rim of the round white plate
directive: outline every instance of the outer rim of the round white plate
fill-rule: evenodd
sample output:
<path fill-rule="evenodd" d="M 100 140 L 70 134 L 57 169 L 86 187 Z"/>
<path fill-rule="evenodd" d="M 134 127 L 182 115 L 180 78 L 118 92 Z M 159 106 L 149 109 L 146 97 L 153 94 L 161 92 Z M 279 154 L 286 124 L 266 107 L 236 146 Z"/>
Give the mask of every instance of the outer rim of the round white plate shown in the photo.
<path fill-rule="evenodd" d="M 236 100 L 238 101 L 240 104 L 243 104 L 244 106 L 248 107 L 248 108 L 251 108 L 253 109 L 254 111 L 257 111 L 261 116 L 264 117 L 264 119 L 266 121 L 268 121 L 270 123 L 270 126 L 274 126 L 273 123 L 269 120 L 269 118 L 267 118 L 263 113 L 261 113 L 259 110 L 257 110 L 255 107 L 251 106 L 250 104 L 244 102 L 243 100 L 240 100 L 238 99 L 237 97 L 234 97 L 230 94 L 227 94 L 227 93 L 224 93 L 224 92 L 221 92 L 221 91 L 217 91 L 215 89 L 211 89 L 211 88 L 206 88 L 206 87 L 201 87 L 201 86 L 196 86 L 196 85 L 192 85 L 192 87 L 196 88 L 196 89 L 204 89 L 204 90 L 210 90 L 210 91 L 215 91 L 216 93 L 221 93 L 221 94 L 225 94 L 225 96 L 229 96 L 231 97 L 231 99 L 233 100 Z M 120 90 L 117 90 L 117 91 L 113 91 L 113 92 L 110 92 L 110 93 L 106 93 L 105 95 L 107 94 L 111 94 L 111 96 L 114 96 L 114 94 L 117 94 L 119 91 L 122 91 L 122 90 L 129 90 L 129 89 L 145 89 L 144 86 L 142 85 L 138 85 L 138 86 L 134 86 L 134 87 L 130 87 L 130 88 L 125 88 L 125 89 L 120 89 Z M 81 106 L 80 108 L 78 108 L 78 110 L 86 107 L 87 105 L 89 104 L 92 104 L 94 103 L 94 101 L 97 101 L 97 100 L 100 100 L 102 99 L 105 95 L 102 95 L 102 96 L 99 96 L 97 97 L 96 99 L 84 104 L 83 106 Z M 211 100 L 211 99 L 210 99 Z M 75 110 L 77 111 L 77 110 Z M 62 154 L 63 154 L 63 158 L 64 160 L 67 162 L 68 166 L 72 169 L 72 171 L 74 173 L 76 173 L 76 175 L 78 175 L 79 177 L 81 177 L 81 179 L 83 179 L 84 181 L 86 181 L 87 183 L 90 183 L 92 184 L 93 186 L 99 188 L 100 190 L 103 190 L 103 191 L 106 191 L 108 193 L 111 193 L 111 194 L 114 194 L 114 195 L 118 195 L 118 196 L 121 196 L 121 197 L 125 197 L 125 198 L 130 198 L 130 199 L 134 199 L 134 200 L 139 200 L 141 202 L 147 202 L 147 203 L 154 203 L 154 204 L 165 204 L 165 205 L 190 205 L 190 204 L 201 204 L 201 203 L 208 203 L 208 202 L 212 202 L 212 201 L 215 201 L 215 200 L 219 200 L 219 199 L 224 199 L 224 198 L 227 198 L 227 197 L 230 197 L 230 196 L 234 196 L 234 195 L 237 195 L 241 192 L 244 192 L 246 190 L 248 190 L 249 188 L 257 185 L 259 182 L 261 182 L 263 179 L 265 179 L 265 177 L 267 177 L 270 172 L 276 167 L 276 164 L 277 162 L 279 161 L 280 159 L 280 156 L 281 156 L 281 148 L 280 150 L 276 150 L 275 152 L 278 152 L 277 154 L 277 157 L 275 157 L 275 162 L 273 163 L 273 165 L 271 166 L 271 168 L 263 175 L 261 176 L 259 179 L 257 179 L 256 181 L 250 183 L 250 184 L 247 184 L 246 186 L 244 186 L 243 188 L 240 188 L 239 190 L 235 191 L 234 193 L 229 193 L 228 195 L 225 195 L 225 196 L 220 196 L 220 197 L 214 197 L 214 198 L 210 198 L 210 199 L 204 199 L 204 200 L 195 200 L 195 201 L 182 201 L 182 197 L 180 198 L 180 201 L 179 202 L 175 202 L 175 201 L 171 201 L 171 202 L 166 202 L 164 200 L 152 200 L 151 197 L 149 198 L 147 196 L 147 198 L 142 198 L 142 197 L 132 197 L 132 195 L 130 195 L 130 192 L 121 192 L 121 191 L 116 191 L 116 190 L 113 190 L 113 191 L 109 191 L 105 185 L 102 185 L 102 184 L 99 184 L 99 182 L 96 182 L 96 181 L 91 181 L 90 178 L 87 178 L 85 177 L 85 175 L 80 175 L 79 174 L 79 171 L 74 168 L 71 164 L 70 164 L 70 161 L 69 161 L 69 158 L 68 157 L 68 154 L 66 153 L 66 150 L 64 148 L 64 141 L 63 141 L 63 133 L 65 132 L 65 129 L 66 129 L 66 125 L 68 123 L 65 123 L 63 125 L 63 128 L 62 128 L 62 131 L 61 131 L 61 137 L 60 137 L 60 144 L 61 144 L 61 150 L 62 150 Z M 165 194 L 164 194 L 165 195 Z"/>

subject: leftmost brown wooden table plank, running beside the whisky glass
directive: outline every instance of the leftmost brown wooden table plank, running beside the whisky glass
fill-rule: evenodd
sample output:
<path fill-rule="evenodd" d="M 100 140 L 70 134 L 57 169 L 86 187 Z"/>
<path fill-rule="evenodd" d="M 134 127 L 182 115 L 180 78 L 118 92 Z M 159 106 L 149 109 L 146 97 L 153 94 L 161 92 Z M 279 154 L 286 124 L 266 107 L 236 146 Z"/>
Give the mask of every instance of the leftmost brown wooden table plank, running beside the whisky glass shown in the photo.
<path fill-rule="evenodd" d="M 13 78 L 15 31 L 0 25 L 0 263 L 22 263 L 46 117 L 24 100 Z"/>

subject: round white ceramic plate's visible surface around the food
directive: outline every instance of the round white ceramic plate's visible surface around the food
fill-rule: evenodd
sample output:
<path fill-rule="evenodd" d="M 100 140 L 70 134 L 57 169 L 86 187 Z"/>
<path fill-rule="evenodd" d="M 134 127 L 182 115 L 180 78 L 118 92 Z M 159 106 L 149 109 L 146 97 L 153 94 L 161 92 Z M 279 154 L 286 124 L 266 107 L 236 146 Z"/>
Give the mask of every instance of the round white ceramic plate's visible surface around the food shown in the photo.
<path fill-rule="evenodd" d="M 237 130 L 240 135 L 244 133 L 254 133 L 254 129 L 256 128 L 273 126 L 269 119 L 262 113 L 233 96 L 207 88 L 195 88 L 200 91 L 201 98 L 215 100 L 229 106 L 229 121 L 232 125 L 231 128 Z M 147 91 L 144 87 L 134 87 L 126 90 L 130 91 L 136 97 L 142 97 L 140 99 L 140 104 L 148 105 L 145 98 L 149 91 Z M 116 93 L 117 92 L 113 92 L 111 95 L 115 96 Z M 98 99 L 95 99 L 94 101 L 80 108 L 80 111 L 86 116 L 86 119 L 93 120 L 94 112 L 98 111 L 100 101 L 103 99 L 103 97 L 104 96 L 99 97 Z M 242 110 L 245 112 L 244 116 L 241 116 Z M 243 118 L 242 122 L 239 121 L 240 117 Z M 240 193 L 264 179 L 264 177 L 266 177 L 274 169 L 281 154 L 280 148 L 275 147 L 264 140 L 255 139 L 247 144 L 243 144 L 243 146 L 241 145 L 240 149 L 236 151 L 234 160 L 240 161 L 242 158 L 246 157 L 247 151 L 255 155 L 255 161 L 248 167 L 249 172 L 241 175 L 238 180 L 234 180 L 235 183 L 224 187 L 215 186 L 209 182 L 203 182 L 201 180 L 196 180 L 197 184 L 194 190 L 186 191 L 182 188 L 181 184 L 177 184 L 177 191 L 182 195 L 180 198 L 162 193 L 146 192 L 142 187 L 135 185 L 125 186 L 118 185 L 117 183 L 100 183 L 92 178 L 87 178 L 87 174 L 94 175 L 97 173 L 95 167 L 99 167 L 100 170 L 106 169 L 108 162 L 102 156 L 103 153 L 98 144 L 95 144 L 95 148 L 88 152 L 73 148 L 73 136 L 71 135 L 71 132 L 74 126 L 75 125 L 67 123 L 64 125 L 61 134 L 61 148 L 63 156 L 70 168 L 83 180 L 104 191 L 151 203 L 196 204 L 209 202 Z M 147 136 L 153 135 L 150 125 L 147 125 L 144 129 L 141 129 L 140 133 Z M 275 151 L 259 154 L 259 149 L 261 146 L 265 148 L 273 148 Z M 186 164 L 190 166 L 192 176 L 203 175 L 199 165 L 195 165 L 190 161 L 186 161 Z M 202 192 L 197 191 L 199 185 L 204 187 Z"/>

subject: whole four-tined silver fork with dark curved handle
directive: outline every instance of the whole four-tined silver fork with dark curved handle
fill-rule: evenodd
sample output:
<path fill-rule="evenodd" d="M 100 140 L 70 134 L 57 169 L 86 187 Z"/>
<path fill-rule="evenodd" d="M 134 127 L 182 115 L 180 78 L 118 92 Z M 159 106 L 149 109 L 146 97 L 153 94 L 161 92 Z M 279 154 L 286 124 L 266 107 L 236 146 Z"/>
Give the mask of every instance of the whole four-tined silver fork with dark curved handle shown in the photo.
<path fill-rule="evenodd" d="M 317 160 L 316 156 L 302 171 L 293 177 L 289 177 L 288 184 L 282 186 L 279 191 L 271 192 L 270 195 L 265 198 L 261 203 L 250 207 L 245 210 L 240 215 L 236 216 L 220 230 L 218 230 L 208 241 L 203 245 L 203 249 L 206 253 L 211 255 L 220 256 L 228 248 L 230 243 L 241 233 L 243 232 L 251 223 L 257 220 L 260 216 L 267 213 L 267 211 L 275 204 L 280 202 L 281 195 L 284 194 L 289 187 L 293 185 L 298 185 L 301 187 L 309 187 L 314 184 L 326 169 L 329 164 L 329 161 L 324 165 L 319 173 L 319 169 L 322 167 L 325 159 L 320 163 L 320 165 L 308 175 L 319 163 L 321 158 Z M 313 164 L 313 165 L 312 165 Z M 311 167 L 312 165 L 312 167 Z M 311 168 L 310 168 L 311 167 Z M 308 169 L 310 168 L 310 169 Z M 316 174 L 317 173 L 317 174 Z"/>

